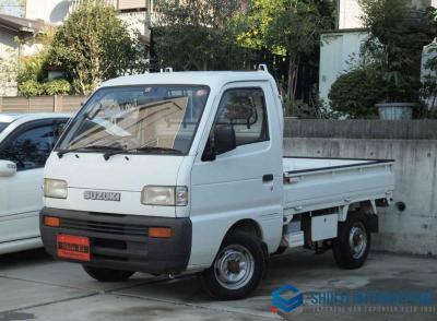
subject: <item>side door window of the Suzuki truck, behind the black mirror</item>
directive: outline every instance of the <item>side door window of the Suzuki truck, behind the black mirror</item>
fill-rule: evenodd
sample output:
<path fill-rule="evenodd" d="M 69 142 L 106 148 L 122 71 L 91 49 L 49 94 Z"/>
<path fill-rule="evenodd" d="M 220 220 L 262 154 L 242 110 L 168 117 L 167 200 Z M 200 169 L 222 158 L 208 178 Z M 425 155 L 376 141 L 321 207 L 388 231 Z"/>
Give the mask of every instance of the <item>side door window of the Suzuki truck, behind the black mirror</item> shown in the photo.
<path fill-rule="evenodd" d="M 215 126 L 234 128 L 237 146 L 269 140 L 264 93 L 261 88 L 229 90 L 220 103 Z"/>

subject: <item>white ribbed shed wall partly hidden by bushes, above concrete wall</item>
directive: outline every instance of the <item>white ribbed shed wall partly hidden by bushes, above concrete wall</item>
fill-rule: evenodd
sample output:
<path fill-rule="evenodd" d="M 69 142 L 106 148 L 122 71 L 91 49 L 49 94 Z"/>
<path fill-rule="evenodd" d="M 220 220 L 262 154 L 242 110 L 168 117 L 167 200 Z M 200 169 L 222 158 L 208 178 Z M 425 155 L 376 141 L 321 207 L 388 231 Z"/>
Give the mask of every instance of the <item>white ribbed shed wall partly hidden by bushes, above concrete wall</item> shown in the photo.
<path fill-rule="evenodd" d="M 350 69 L 347 62 L 359 52 L 366 32 L 330 33 L 321 36 L 319 94 L 329 103 L 328 94 L 335 80 Z"/>

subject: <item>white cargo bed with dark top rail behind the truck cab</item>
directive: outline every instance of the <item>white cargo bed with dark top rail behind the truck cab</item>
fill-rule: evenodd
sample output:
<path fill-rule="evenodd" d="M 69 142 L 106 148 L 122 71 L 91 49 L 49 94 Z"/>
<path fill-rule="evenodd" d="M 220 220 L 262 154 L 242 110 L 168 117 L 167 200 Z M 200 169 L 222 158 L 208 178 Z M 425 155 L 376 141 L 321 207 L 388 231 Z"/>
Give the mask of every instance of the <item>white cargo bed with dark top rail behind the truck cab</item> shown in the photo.
<path fill-rule="evenodd" d="M 284 214 L 391 198 L 394 160 L 284 157 Z"/>

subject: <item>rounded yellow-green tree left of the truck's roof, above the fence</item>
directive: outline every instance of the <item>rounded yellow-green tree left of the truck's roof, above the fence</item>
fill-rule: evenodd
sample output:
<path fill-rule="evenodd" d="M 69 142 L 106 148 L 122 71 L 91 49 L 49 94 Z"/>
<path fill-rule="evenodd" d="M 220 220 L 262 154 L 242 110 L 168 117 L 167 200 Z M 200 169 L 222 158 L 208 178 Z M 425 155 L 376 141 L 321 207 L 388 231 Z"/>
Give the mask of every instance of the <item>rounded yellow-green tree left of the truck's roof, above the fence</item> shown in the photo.
<path fill-rule="evenodd" d="M 144 45 L 104 0 L 85 0 L 60 26 L 48 63 L 64 70 L 78 94 L 88 94 L 102 81 L 146 69 Z"/>

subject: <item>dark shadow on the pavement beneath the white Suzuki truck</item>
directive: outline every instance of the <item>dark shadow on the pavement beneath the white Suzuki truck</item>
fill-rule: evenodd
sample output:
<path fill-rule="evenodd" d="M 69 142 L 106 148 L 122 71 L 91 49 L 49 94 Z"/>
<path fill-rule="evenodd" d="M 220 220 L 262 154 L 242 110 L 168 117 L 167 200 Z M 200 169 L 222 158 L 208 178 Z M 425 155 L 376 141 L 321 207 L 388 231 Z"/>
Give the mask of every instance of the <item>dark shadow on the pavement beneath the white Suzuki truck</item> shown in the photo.
<path fill-rule="evenodd" d="M 259 307 L 260 311 L 269 310 L 271 293 L 276 288 L 292 284 L 294 286 L 305 287 L 323 287 L 328 286 L 327 278 L 335 276 L 342 277 L 344 270 L 336 268 L 330 252 L 321 255 L 315 255 L 314 252 L 292 252 L 281 257 L 272 258 L 269 264 L 267 277 L 261 282 L 260 286 L 253 294 L 245 300 L 228 301 L 226 306 L 235 308 Z M 308 284 L 308 280 L 311 280 Z M 322 282 L 324 280 L 324 282 Z M 164 280 L 151 282 L 126 288 L 120 294 L 156 299 L 170 302 L 179 302 L 187 305 L 202 305 L 213 307 L 220 305 L 206 296 L 200 286 L 200 282 L 196 275 L 179 276 L 175 280 Z M 259 305 L 253 304 L 259 301 Z M 224 302 L 221 302 L 223 305 Z"/>

